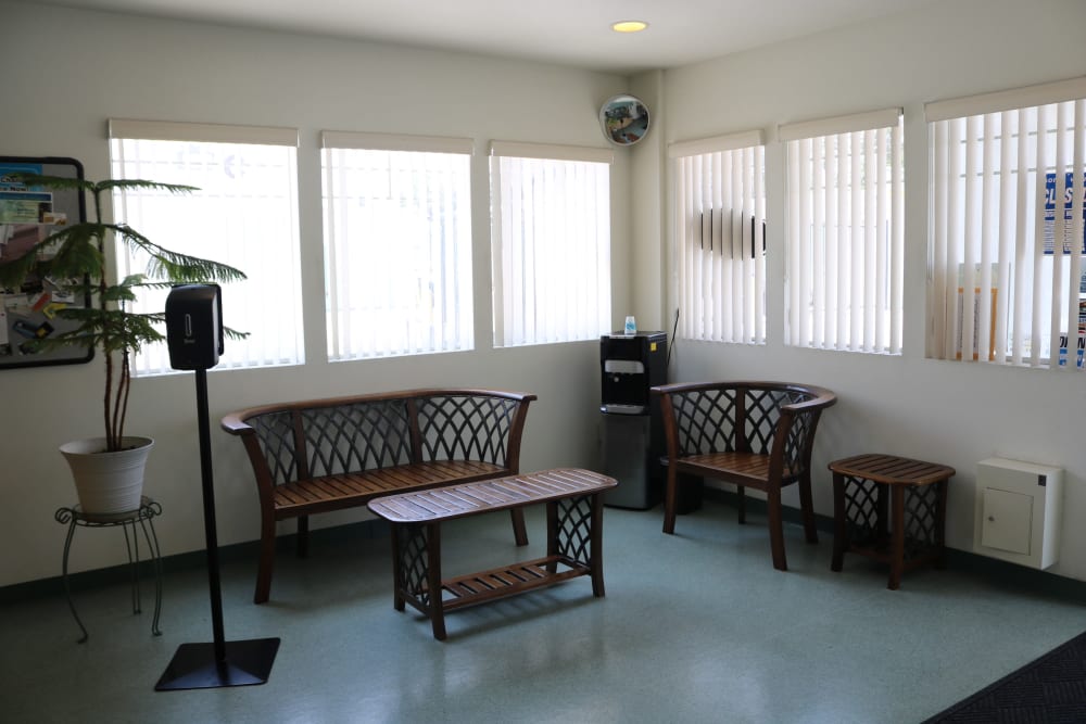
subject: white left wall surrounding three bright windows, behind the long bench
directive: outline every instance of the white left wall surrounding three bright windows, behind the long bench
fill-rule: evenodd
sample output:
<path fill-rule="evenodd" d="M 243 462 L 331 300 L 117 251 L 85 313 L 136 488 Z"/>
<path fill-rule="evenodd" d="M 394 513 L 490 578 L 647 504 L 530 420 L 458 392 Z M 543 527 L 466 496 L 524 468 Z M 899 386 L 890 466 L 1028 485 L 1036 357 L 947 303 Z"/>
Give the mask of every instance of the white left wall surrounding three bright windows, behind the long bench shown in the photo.
<path fill-rule="evenodd" d="M 219 432 L 223 414 L 279 399 L 379 390 L 472 385 L 539 395 L 528 416 L 526 470 L 590 466 L 598 417 L 595 342 L 491 348 L 485 150 L 490 139 L 606 148 L 597 113 L 627 90 L 613 75 L 350 42 L 302 35 L 161 22 L 0 1 L 0 154 L 80 160 L 109 175 L 109 117 L 238 123 L 300 129 L 300 218 L 307 363 L 212 371 L 212 441 L 219 541 L 258 535 L 255 486 L 241 445 Z M 318 134 L 321 129 L 476 139 L 472 209 L 476 351 L 394 360 L 325 358 Z M 629 151 L 613 174 L 615 315 L 629 304 Z M 379 274 L 375 270 L 375 274 Z M 359 280 L 364 283 L 365 280 Z M 302 304 L 303 300 L 299 300 Z M 616 328 L 621 317 L 615 320 Z M 0 370 L 2 434 L 0 585 L 58 575 L 64 530 L 52 519 L 75 503 L 61 443 L 98 433 L 102 370 L 81 366 Z M 147 493 L 167 555 L 203 547 L 194 383 L 191 374 L 137 380 L 128 431 L 156 440 Z M 313 524 L 358 519 L 324 516 Z M 124 560 L 119 538 L 77 533 L 72 569 Z"/>

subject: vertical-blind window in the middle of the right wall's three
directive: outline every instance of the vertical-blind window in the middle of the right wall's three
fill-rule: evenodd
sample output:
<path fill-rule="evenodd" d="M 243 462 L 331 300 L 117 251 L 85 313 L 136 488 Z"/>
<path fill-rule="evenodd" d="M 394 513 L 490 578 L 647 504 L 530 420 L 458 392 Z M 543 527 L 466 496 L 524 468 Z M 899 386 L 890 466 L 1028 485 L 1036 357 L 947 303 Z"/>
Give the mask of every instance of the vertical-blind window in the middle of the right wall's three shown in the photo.
<path fill-rule="evenodd" d="M 787 344 L 900 354 L 901 110 L 780 127 L 787 144 Z"/>

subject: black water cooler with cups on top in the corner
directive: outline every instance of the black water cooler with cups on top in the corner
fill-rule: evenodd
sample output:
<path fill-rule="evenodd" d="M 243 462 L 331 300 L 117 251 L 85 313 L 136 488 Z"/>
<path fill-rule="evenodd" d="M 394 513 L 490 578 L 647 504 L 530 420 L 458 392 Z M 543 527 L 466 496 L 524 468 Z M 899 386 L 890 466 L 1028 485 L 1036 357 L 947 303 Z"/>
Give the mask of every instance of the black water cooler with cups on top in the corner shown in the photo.
<path fill-rule="evenodd" d="M 667 448 L 649 389 L 667 383 L 667 340 L 665 332 L 599 338 L 601 469 L 619 483 L 604 494 L 605 505 L 645 510 L 661 499 Z"/>

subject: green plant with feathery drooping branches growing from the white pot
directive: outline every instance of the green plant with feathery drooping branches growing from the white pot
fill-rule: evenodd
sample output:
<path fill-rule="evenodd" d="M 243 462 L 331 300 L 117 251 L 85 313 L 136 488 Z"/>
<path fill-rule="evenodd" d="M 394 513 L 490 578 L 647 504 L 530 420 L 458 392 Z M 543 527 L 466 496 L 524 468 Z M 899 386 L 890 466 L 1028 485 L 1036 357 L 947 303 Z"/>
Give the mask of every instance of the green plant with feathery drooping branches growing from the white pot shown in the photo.
<path fill-rule="evenodd" d="M 0 288 L 17 288 L 27 277 L 37 275 L 62 282 L 75 299 L 89 299 L 86 307 L 67 306 L 56 314 L 70 321 L 61 333 L 36 342 L 41 348 L 78 345 L 97 350 L 105 361 L 103 415 L 105 449 L 124 447 L 125 418 L 131 389 L 131 355 L 143 345 L 165 339 L 159 330 L 164 314 L 139 314 L 130 310 L 140 289 L 164 288 L 178 283 L 228 282 L 244 279 L 238 269 L 188 254 L 165 249 L 126 224 L 102 220 L 102 196 L 126 189 L 154 189 L 171 193 L 189 193 L 193 187 L 160 183 L 140 179 L 89 181 L 34 174 L 16 175 L 27 188 L 75 190 L 90 195 L 91 220 L 80 220 L 59 227 L 35 244 L 34 249 L 11 261 L 0 263 Z M 111 283 L 108 258 L 115 249 L 114 239 L 130 250 L 148 255 L 146 274 L 126 276 Z M 231 336 L 239 333 L 226 330 Z"/>

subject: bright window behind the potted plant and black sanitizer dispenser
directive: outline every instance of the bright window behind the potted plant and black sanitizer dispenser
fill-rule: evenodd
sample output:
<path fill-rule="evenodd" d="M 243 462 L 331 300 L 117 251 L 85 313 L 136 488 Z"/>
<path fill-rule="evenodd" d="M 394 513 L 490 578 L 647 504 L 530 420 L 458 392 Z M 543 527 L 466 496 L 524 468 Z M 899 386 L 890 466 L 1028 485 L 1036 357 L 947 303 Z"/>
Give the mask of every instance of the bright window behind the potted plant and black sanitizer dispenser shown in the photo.
<path fill-rule="evenodd" d="M 244 340 L 230 340 L 225 345 L 225 353 L 220 357 L 218 368 L 261 368 L 261 367 L 283 367 L 305 364 L 305 346 L 303 316 L 301 305 L 295 300 L 301 299 L 301 234 L 299 225 L 299 193 L 298 193 L 298 143 L 299 136 L 295 128 L 280 128 L 272 126 L 244 126 L 226 124 L 205 123 L 181 123 L 163 120 L 135 120 L 127 118 L 111 118 L 109 120 L 108 137 L 110 140 L 110 167 L 114 177 L 147 178 L 163 182 L 174 182 L 187 186 L 197 186 L 192 181 L 191 175 L 171 176 L 166 174 L 142 173 L 141 166 L 148 164 L 169 164 L 162 158 L 151 161 L 147 158 L 131 158 L 130 153 L 125 152 L 126 143 L 141 142 L 165 142 L 171 144 L 201 144 L 213 158 L 212 163 L 203 164 L 202 168 L 222 167 L 223 173 L 228 177 L 236 178 L 244 175 L 248 166 L 244 161 L 237 162 L 237 154 L 231 156 L 229 151 L 243 147 L 261 147 L 260 157 L 263 161 L 276 155 L 276 149 L 285 154 L 280 158 L 274 160 L 275 168 L 285 174 L 277 179 L 275 187 L 267 187 L 267 167 L 262 167 L 261 174 L 255 174 L 254 179 L 264 187 L 260 192 L 253 193 L 250 189 L 245 194 L 236 194 L 223 200 L 209 196 L 201 196 L 201 190 L 190 195 L 171 195 L 166 203 L 169 204 L 171 221 L 169 232 L 164 232 L 167 237 L 162 239 L 154 230 L 154 224 L 141 220 L 134 226 L 140 228 L 149 237 L 154 236 L 159 243 L 167 247 L 177 247 L 179 251 L 190 252 L 193 250 L 184 247 L 184 239 L 201 238 L 207 234 L 209 228 L 237 229 L 237 225 L 244 224 L 245 218 L 256 216 L 261 231 L 253 232 L 253 237 L 258 237 L 258 241 L 245 243 L 241 242 L 224 245 L 216 244 L 206 253 L 197 251 L 198 256 L 205 256 L 235 266 L 243 271 L 248 279 L 245 281 L 225 284 L 223 287 L 223 308 L 224 323 L 241 332 L 248 332 Z M 180 148 L 180 147 L 177 147 Z M 216 155 L 223 153 L 226 155 Z M 230 165 L 233 164 L 233 165 Z M 230 165 L 228 174 L 227 166 Z M 136 170 L 136 174 L 130 174 Z M 247 214 L 238 211 L 238 204 L 253 204 L 261 196 L 261 193 L 270 192 L 281 194 L 274 196 L 270 205 L 262 207 L 268 214 Z M 113 198 L 113 217 L 118 223 L 124 223 L 129 216 L 129 209 L 141 205 L 152 194 L 162 195 L 163 192 L 149 190 L 128 190 L 116 192 Z M 210 193 L 210 192 L 204 192 Z M 281 203 L 281 199 L 288 199 L 289 203 Z M 216 203 L 217 202 L 217 203 Z M 200 213 L 184 212 L 186 205 L 194 207 L 198 203 Z M 211 206 L 220 207 L 220 212 L 215 219 L 209 220 L 207 209 Z M 139 214 L 136 209 L 132 213 Z M 179 224 L 184 224 L 185 218 L 199 219 L 194 221 L 191 230 L 175 232 Z M 217 225 L 217 227 L 216 227 Z M 232 225 L 232 227 L 231 227 Z M 151 230 L 148 230 L 149 226 Z M 266 228 L 265 228 L 266 227 Z M 244 228 L 244 227 L 242 227 Z M 286 231 L 285 237 L 278 238 L 278 246 L 268 252 L 269 238 L 276 231 Z M 169 238 L 177 241 L 169 241 Z M 140 259 L 132 258 L 129 250 L 123 244 L 117 244 L 116 249 L 116 272 L 119 275 L 141 274 L 143 271 Z M 267 262 L 269 256 L 274 259 L 290 259 L 289 264 L 279 267 L 275 275 L 267 275 Z M 267 290 L 275 290 L 274 292 Z M 165 302 L 168 290 L 143 290 L 140 299 L 134 305 L 134 309 L 153 313 L 159 312 Z M 268 300 L 272 309 L 268 308 Z M 273 318 L 275 321 L 257 323 L 260 319 Z M 131 360 L 134 377 L 153 377 L 173 373 L 175 370 L 168 364 L 168 354 L 165 345 L 153 345 L 146 347 Z"/>

